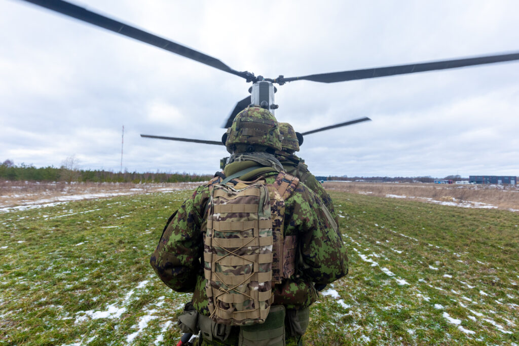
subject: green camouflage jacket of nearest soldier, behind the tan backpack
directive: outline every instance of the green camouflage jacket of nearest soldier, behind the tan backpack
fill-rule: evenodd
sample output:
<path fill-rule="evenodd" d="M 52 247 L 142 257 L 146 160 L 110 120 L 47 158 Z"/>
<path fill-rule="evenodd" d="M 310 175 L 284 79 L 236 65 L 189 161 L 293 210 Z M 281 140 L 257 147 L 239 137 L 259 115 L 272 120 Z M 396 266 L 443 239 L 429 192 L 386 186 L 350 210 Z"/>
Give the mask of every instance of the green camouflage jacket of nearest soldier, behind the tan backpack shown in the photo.
<path fill-rule="evenodd" d="M 262 176 L 271 184 L 277 172 Z M 207 227 L 204 211 L 209 197 L 209 187 L 205 184 L 184 201 L 170 217 L 150 260 L 157 275 L 170 288 L 193 292 L 193 304 L 204 315 L 209 315 L 209 310 L 201 258 Z M 348 272 L 346 248 L 321 205 L 319 197 L 302 183 L 285 200 L 284 235 L 297 236 L 298 260 L 294 275 L 272 289 L 275 305 L 288 309 L 308 307 L 317 299 L 314 283 L 329 284 Z"/>

